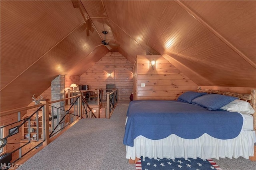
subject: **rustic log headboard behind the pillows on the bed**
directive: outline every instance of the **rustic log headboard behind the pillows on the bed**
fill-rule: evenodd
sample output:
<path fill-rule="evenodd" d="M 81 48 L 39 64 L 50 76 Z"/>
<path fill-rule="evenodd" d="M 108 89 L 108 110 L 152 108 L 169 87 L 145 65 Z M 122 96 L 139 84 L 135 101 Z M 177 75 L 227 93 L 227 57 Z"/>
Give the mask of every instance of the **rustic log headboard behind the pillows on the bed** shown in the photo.
<path fill-rule="evenodd" d="M 256 89 L 252 89 L 250 94 L 249 93 L 236 93 L 236 92 L 229 92 L 229 91 L 212 90 L 212 89 L 201 89 L 201 87 L 198 87 L 197 91 L 238 97 L 241 100 L 250 102 L 254 111 L 256 111 Z M 252 116 L 253 116 L 254 130 L 256 130 L 256 112 L 254 112 L 254 114 Z"/>

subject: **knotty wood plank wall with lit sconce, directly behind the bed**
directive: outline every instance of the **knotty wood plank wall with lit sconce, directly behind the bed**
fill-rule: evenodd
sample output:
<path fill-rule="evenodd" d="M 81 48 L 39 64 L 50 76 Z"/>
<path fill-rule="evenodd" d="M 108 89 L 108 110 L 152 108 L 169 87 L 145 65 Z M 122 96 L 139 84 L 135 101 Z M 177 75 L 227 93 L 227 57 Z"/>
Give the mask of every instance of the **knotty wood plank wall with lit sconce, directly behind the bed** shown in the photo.
<path fill-rule="evenodd" d="M 150 61 L 156 64 L 152 69 Z M 161 55 L 137 56 L 137 99 L 176 100 L 197 85 Z M 145 87 L 141 87 L 145 83 Z"/>

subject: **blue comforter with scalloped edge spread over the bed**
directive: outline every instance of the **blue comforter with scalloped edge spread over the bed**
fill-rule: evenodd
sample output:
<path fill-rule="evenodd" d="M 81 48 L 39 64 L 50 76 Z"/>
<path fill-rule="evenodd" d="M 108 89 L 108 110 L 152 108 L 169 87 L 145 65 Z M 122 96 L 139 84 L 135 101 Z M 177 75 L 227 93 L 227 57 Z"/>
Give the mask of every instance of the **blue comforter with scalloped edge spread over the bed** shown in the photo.
<path fill-rule="evenodd" d="M 133 140 L 142 135 L 158 140 L 176 134 L 195 139 L 207 133 L 218 139 L 231 139 L 242 129 L 243 117 L 236 112 L 206 108 L 182 101 L 131 101 L 127 111 L 123 143 L 133 146 Z"/>

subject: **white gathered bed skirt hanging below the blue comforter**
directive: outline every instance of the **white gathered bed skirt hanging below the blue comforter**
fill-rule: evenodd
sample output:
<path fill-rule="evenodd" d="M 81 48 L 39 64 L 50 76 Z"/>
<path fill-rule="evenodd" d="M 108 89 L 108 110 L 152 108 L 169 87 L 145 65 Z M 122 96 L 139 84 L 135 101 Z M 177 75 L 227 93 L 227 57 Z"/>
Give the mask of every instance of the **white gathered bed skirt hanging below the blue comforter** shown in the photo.
<path fill-rule="evenodd" d="M 126 146 L 126 158 L 249 158 L 254 154 L 255 131 L 241 132 L 236 138 L 221 140 L 203 134 L 196 139 L 184 139 L 175 134 L 160 140 L 144 136 L 134 139 L 134 146 Z"/>

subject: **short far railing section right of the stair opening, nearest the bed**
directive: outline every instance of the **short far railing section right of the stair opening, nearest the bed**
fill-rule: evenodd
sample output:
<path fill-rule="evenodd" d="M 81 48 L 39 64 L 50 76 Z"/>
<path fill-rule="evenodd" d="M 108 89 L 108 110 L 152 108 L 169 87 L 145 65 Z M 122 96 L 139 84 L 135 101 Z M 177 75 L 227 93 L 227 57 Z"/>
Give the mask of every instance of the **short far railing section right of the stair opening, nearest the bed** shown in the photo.
<path fill-rule="evenodd" d="M 118 89 L 113 89 L 112 92 L 107 92 L 107 109 L 106 109 L 106 118 L 110 119 L 116 105 L 118 103 L 117 96 Z"/>

